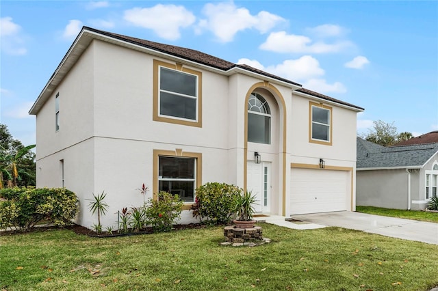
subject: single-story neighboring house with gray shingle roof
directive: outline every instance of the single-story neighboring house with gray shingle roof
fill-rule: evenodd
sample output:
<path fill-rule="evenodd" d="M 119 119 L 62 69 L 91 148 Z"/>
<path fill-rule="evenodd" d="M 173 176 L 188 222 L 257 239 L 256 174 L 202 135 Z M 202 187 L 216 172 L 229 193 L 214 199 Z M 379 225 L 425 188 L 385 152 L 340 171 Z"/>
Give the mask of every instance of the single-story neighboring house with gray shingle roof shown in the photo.
<path fill-rule="evenodd" d="M 357 138 L 356 203 L 423 210 L 437 196 L 438 143 L 391 146 Z"/>

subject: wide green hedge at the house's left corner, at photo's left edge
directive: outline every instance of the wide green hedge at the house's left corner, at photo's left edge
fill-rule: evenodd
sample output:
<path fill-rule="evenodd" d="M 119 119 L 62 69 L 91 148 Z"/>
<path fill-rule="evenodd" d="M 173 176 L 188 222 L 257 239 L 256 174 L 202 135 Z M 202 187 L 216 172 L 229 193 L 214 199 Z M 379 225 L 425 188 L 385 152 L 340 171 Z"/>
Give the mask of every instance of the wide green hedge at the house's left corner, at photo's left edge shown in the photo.
<path fill-rule="evenodd" d="M 0 204 L 1 228 L 29 230 L 41 221 L 62 227 L 78 210 L 75 193 L 64 188 L 14 187 L 1 189 L 0 197 L 6 199 Z"/>

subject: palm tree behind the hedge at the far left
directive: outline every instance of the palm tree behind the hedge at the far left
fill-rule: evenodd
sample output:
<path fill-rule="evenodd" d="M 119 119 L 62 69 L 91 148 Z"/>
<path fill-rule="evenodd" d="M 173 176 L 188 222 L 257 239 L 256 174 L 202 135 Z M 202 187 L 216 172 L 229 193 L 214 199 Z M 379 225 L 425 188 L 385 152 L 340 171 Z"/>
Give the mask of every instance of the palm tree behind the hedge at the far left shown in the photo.
<path fill-rule="evenodd" d="M 24 171 L 26 166 L 22 163 L 22 158 L 29 154 L 31 149 L 36 145 L 25 146 L 16 150 L 14 153 L 9 153 L 5 148 L 0 146 L 0 189 L 3 188 L 3 175 L 8 179 L 8 187 L 17 186 L 17 180 L 21 180 L 21 176 L 29 176 L 28 171 Z"/>

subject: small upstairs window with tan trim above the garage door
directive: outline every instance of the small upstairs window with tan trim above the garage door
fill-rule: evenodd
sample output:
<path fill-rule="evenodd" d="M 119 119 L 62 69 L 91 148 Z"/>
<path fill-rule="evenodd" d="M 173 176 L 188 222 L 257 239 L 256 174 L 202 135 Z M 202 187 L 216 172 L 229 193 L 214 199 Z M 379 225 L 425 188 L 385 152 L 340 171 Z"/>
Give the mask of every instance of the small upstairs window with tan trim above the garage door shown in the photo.
<path fill-rule="evenodd" d="M 332 145 L 332 107 L 309 102 L 309 142 Z"/>

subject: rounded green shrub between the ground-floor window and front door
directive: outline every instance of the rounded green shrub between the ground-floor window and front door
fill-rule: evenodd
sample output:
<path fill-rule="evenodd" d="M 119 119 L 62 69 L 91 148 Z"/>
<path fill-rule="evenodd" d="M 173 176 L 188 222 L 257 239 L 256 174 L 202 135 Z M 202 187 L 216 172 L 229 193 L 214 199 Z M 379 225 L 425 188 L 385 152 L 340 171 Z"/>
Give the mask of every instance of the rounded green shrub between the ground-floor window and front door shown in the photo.
<path fill-rule="evenodd" d="M 196 189 L 195 204 L 190 208 L 194 217 L 207 219 L 207 223 L 219 225 L 229 223 L 235 214 L 235 197 L 242 189 L 225 183 L 210 182 Z"/>

